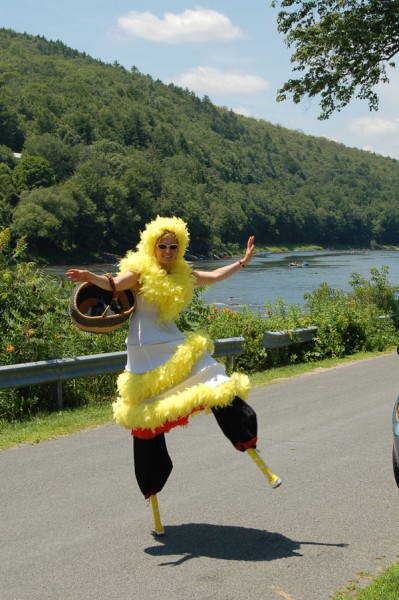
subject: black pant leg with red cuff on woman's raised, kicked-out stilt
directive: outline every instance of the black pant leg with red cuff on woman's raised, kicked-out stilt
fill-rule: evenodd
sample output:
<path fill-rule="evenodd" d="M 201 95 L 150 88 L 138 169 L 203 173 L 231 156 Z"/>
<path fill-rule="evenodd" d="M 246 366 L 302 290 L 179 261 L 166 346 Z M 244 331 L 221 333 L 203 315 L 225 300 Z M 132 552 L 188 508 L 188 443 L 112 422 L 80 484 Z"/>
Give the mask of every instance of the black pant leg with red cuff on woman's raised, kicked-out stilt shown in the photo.
<path fill-rule="evenodd" d="M 212 408 L 215 419 L 233 446 L 245 452 L 256 448 L 258 422 L 254 409 L 236 396 L 229 406 Z"/>

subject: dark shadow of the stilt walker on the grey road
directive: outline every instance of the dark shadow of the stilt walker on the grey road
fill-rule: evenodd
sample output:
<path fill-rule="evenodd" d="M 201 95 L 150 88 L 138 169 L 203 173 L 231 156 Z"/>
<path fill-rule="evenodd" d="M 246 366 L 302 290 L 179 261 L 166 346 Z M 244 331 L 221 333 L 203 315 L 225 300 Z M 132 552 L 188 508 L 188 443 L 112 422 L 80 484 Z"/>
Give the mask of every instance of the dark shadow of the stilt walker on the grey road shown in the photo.
<path fill-rule="evenodd" d="M 223 560 L 269 561 L 290 556 L 301 557 L 301 545 L 334 546 L 344 548 L 347 544 L 324 542 L 299 542 L 281 533 L 229 525 L 187 523 L 169 525 L 166 534 L 156 537 L 156 546 L 146 548 L 152 556 L 180 556 L 175 561 L 160 563 L 161 566 L 178 566 L 191 558 L 206 556 Z"/>

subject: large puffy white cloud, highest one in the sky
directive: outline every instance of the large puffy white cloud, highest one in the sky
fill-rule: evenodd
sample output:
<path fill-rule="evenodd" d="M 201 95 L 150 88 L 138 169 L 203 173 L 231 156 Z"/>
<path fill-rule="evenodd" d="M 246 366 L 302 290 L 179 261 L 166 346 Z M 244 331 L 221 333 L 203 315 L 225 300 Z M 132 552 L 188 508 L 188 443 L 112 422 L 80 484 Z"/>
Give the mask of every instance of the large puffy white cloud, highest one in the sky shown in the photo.
<path fill-rule="evenodd" d="M 149 11 L 132 11 L 118 17 L 117 23 L 129 36 L 166 44 L 228 42 L 244 37 L 228 17 L 199 6 L 182 13 L 167 12 L 161 19 Z"/>

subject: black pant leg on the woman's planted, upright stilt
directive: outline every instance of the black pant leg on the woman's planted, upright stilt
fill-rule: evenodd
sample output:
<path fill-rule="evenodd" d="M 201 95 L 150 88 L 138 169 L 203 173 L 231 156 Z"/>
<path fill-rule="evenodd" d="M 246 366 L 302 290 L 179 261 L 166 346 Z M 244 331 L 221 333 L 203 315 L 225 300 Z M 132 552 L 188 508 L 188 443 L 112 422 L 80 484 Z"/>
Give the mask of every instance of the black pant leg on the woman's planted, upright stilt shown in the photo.
<path fill-rule="evenodd" d="M 133 437 L 134 472 L 145 498 L 160 492 L 173 469 L 165 434 L 154 438 Z"/>

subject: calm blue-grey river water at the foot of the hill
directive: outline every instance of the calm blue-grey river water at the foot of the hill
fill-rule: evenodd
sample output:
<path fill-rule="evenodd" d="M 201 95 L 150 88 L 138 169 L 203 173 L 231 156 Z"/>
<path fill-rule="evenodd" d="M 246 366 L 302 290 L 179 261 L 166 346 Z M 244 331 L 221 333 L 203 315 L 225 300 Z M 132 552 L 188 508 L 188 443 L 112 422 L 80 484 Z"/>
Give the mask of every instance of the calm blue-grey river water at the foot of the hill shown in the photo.
<path fill-rule="evenodd" d="M 208 271 L 232 262 L 230 260 L 196 261 L 197 270 Z M 291 262 L 305 267 L 290 267 Z M 204 299 L 207 303 L 238 308 L 248 306 L 255 312 L 262 311 L 266 302 L 281 298 L 286 304 L 303 304 L 303 295 L 312 292 L 325 281 L 336 289 L 350 290 L 351 273 L 356 272 L 365 279 L 370 278 L 370 269 L 388 267 L 388 280 L 399 284 L 399 252 L 397 251 L 312 251 L 275 253 L 265 257 L 255 256 L 252 262 L 239 273 L 209 286 Z M 97 273 L 115 272 L 117 267 L 110 264 L 71 265 L 89 268 Z M 59 274 L 67 267 L 51 268 Z"/>

